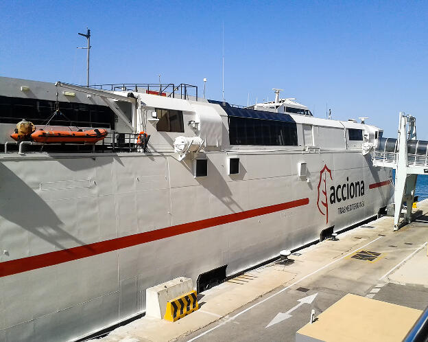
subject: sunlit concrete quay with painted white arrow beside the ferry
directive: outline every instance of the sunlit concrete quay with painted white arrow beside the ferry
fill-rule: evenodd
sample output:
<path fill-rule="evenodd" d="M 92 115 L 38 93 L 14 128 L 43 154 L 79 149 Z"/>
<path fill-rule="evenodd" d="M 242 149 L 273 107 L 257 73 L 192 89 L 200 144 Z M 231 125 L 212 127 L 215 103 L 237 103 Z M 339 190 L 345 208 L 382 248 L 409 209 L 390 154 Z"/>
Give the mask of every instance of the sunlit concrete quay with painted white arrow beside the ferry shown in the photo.
<path fill-rule="evenodd" d="M 288 261 L 272 262 L 206 290 L 198 295 L 200 309 L 175 323 L 143 317 L 96 341 L 295 341 L 312 309 L 318 317 L 348 293 L 424 310 L 428 200 L 418 203 L 414 212 L 414 222 L 399 231 L 392 229 L 393 218 L 384 216 L 340 233 L 337 240 L 293 253 Z M 349 314 L 349 306 L 335 307 L 339 312 L 331 317 Z M 405 308 L 397 312 L 406 312 Z M 367 317 L 372 313 L 368 311 Z M 390 314 L 388 308 L 379 310 L 386 322 L 383 329 L 394 331 L 397 320 Z M 328 324 L 341 328 L 340 320 Z M 370 329 L 377 329 L 370 319 L 354 324 L 360 326 L 361 336 L 353 335 L 353 340 L 369 341 Z"/>

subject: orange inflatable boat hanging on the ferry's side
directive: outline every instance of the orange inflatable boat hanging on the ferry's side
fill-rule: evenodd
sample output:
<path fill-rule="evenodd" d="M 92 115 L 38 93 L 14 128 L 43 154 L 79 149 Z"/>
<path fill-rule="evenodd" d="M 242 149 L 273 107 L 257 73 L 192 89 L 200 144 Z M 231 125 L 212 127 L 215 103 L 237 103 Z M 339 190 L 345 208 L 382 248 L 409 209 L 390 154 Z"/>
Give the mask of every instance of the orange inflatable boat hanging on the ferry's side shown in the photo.
<path fill-rule="evenodd" d="M 36 130 L 31 137 L 40 143 L 88 143 L 95 144 L 104 139 L 108 132 L 104 128 L 93 130 Z M 13 137 L 12 137 L 13 138 Z"/>

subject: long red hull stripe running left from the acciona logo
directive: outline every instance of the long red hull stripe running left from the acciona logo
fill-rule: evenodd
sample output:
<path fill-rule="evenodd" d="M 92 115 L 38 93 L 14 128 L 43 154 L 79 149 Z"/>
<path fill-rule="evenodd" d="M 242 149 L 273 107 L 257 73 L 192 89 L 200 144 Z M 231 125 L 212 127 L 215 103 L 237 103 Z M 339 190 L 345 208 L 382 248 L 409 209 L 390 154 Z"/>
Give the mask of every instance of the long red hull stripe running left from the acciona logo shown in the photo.
<path fill-rule="evenodd" d="M 239 220 L 245 220 L 246 218 L 252 218 L 265 214 L 272 214 L 274 212 L 280 212 L 281 210 L 300 207 L 301 205 L 307 205 L 308 203 L 309 198 L 302 198 L 297 201 L 269 205 L 268 207 L 246 210 L 245 212 L 239 212 L 235 214 L 206 218 L 205 220 L 199 220 L 191 223 L 183 223 L 181 225 L 156 229 L 154 231 L 146 231 L 145 233 L 123 236 L 122 238 L 95 242 L 92 244 L 86 244 L 84 246 L 63 249 L 62 251 L 54 251 L 50 253 L 30 256 L 27 258 L 0 262 L 0 277 L 32 271 L 34 269 L 41 269 L 43 267 L 62 264 L 63 262 L 69 262 L 72 260 L 88 258 L 97 254 L 117 251 L 118 249 L 136 246 L 137 244 L 171 238 L 171 236 L 190 233 L 191 231 L 198 231 L 201 229 L 211 228 L 218 225 L 224 225 L 226 223 L 233 223 Z"/>

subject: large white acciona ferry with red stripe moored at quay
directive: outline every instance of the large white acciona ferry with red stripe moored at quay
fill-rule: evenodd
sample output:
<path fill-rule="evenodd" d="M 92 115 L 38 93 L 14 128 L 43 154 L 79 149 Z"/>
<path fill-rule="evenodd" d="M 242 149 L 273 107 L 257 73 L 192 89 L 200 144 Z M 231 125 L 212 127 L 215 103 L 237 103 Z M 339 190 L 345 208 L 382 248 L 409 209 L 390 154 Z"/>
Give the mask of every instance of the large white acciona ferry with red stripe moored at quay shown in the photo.
<path fill-rule="evenodd" d="M 83 339 L 141 316 L 151 286 L 199 293 L 383 212 L 383 130 L 275 93 L 0 77 L 0 341 Z M 59 138 L 16 141 L 20 122 Z M 58 136 L 86 130 L 106 136 Z"/>

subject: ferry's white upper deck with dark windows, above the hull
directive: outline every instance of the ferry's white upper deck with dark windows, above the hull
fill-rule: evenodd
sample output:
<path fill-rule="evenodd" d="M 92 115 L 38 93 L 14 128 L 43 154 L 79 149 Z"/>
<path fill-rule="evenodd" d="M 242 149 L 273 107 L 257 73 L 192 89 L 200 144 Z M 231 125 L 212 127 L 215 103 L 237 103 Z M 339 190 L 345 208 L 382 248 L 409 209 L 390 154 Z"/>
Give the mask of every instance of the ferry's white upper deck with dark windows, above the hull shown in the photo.
<path fill-rule="evenodd" d="M 280 99 L 279 93 L 274 102 L 244 108 L 200 98 L 198 87 L 189 84 L 79 87 L 1 77 L 0 144 L 13 141 L 10 135 L 23 118 L 43 128 L 57 100 L 64 115 L 53 117 L 53 129 L 107 128 L 103 149 L 112 152 L 139 151 L 141 132 L 150 135 L 147 150 L 152 152 L 174 152 L 178 137 L 200 138 L 204 152 L 361 150 L 364 143 L 376 145 L 382 134 L 355 120 L 313 117 L 306 106 Z"/>

